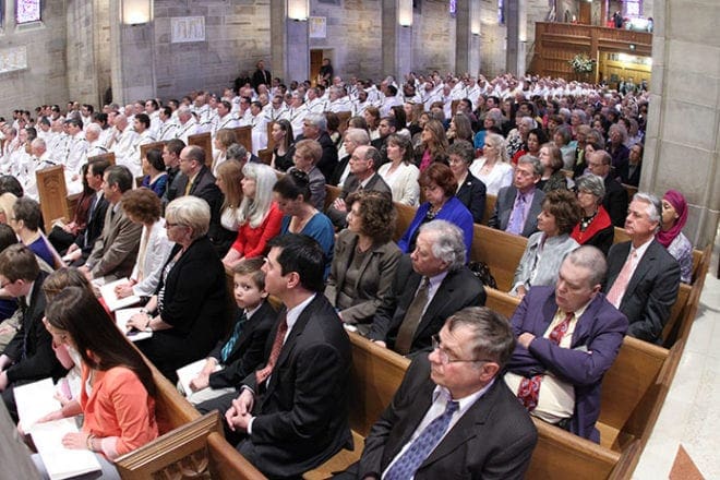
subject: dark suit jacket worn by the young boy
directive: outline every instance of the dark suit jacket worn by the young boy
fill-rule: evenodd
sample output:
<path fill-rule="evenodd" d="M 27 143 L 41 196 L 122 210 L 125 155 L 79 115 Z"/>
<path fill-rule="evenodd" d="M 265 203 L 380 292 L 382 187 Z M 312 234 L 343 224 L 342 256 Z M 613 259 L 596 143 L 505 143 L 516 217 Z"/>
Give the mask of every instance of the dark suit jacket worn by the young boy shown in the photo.
<path fill-rule="evenodd" d="M 273 325 L 277 321 L 277 312 L 268 301 L 263 301 L 260 309 L 248 319 L 245 325 L 236 341 L 225 368 L 209 376 L 211 388 L 237 387 L 245 376 L 257 370 L 263 362 L 265 343 Z M 218 341 L 208 357 L 220 360 L 223 347 L 232 335 L 227 335 Z"/>

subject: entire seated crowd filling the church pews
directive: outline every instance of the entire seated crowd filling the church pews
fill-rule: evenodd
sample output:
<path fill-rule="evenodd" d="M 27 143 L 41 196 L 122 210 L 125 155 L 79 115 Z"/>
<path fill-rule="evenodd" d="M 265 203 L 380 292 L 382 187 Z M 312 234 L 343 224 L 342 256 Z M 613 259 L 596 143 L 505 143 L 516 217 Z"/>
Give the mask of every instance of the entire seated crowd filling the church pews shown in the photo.
<path fill-rule="evenodd" d="M 52 377 L 74 386 L 44 420 L 84 413 L 63 443 L 96 452 L 104 471 L 157 436 L 149 371 L 98 301 L 123 279 L 115 295 L 142 308 L 128 338 L 152 334 L 135 347 L 201 412 L 219 410 L 268 477 L 351 447 L 348 331 L 412 360 L 348 478 L 521 478 L 537 442 L 528 412 L 599 442 L 623 337 L 660 343 L 692 280 L 683 195 L 623 187 L 639 179 L 647 95 L 436 72 L 286 87 L 263 83 L 262 62 L 256 73 L 223 96 L 44 106 L 3 125 L 0 392 L 14 420 L 13 388 Z M 202 132 L 212 158 L 188 143 Z M 46 236 L 35 172 L 53 165 L 79 200 Z M 397 243 L 395 204 L 416 207 Z M 527 237 L 509 321 L 483 307 L 468 266 L 481 223 Z M 614 227 L 629 241 L 613 244 Z"/>

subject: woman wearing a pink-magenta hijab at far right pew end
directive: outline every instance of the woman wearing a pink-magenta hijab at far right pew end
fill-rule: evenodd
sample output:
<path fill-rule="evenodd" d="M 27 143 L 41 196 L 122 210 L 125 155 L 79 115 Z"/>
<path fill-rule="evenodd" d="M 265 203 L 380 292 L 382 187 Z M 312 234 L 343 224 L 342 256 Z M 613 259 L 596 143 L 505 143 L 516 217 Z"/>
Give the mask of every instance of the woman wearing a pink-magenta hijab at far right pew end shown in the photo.
<path fill-rule="evenodd" d="M 656 239 L 680 263 L 680 280 L 693 279 L 693 244 L 682 232 L 687 221 L 687 202 L 677 190 L 668 190 L 662 196 L 662 219 Z"/>

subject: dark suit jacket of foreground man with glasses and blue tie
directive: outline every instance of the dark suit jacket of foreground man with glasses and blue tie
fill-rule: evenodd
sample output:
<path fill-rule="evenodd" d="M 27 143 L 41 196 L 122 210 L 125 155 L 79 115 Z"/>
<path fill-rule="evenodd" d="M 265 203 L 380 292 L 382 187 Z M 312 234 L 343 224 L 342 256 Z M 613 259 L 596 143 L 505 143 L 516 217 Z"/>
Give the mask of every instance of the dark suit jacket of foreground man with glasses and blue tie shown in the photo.
<path fill-rule="evenodd" d="M 380 478 L 428 412 L 434 388 L 428 356 L 418 356 L 365 439 L 357 478 Z M 415 479 L 521 479 L 537 440 L 530 416 L 505 382 L 495 379 L 420 465 Z"/>

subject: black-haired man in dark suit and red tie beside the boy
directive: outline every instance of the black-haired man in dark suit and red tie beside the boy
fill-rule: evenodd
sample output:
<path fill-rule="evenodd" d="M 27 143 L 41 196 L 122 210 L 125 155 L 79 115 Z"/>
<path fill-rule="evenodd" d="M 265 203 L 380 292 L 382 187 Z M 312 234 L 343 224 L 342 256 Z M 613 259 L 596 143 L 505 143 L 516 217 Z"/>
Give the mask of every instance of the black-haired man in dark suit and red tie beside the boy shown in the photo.
<path fill-rule="evenodd" d="M 341 448 L 348 427 L 350 340 L 322 291 L 325 259 L 302 235 L 271 240 L 265 288 L 286 309 L 269 334 L 265 367 L 242 383 L 225 418 L 247 433 L 238 451 L 271 478 L 300 477 Z"/>

